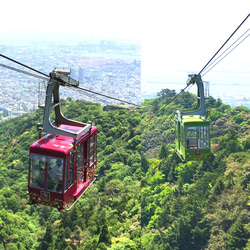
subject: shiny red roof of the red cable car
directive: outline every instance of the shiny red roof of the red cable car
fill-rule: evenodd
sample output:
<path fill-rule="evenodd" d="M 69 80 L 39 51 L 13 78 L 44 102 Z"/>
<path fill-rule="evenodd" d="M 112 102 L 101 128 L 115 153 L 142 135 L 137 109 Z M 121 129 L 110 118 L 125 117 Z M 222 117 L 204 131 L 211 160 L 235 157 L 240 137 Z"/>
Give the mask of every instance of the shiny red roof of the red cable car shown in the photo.
<path fill-rule="evenodd" d="M 82 129 L 82 127 L 70 125 L 61 125 L 60 128 L 69 130 L 71 132 L 78 132 Z M 96 130 L 97 128 L 95 126 L 92 126 L 91 134 L 93 134 Z M 87 136 L 88 132 L 79 136 L 77 138 L 77 142 Z M 73 148 L 73 144 L 73 137 L 47 134 L 30 146 L 30 153 L 53 155 L 53 153 L 56 152 L 58 155 L 61 155 L 63 157 L 63 155 L 66 155 L 71 151 L 71 149 Z"/>

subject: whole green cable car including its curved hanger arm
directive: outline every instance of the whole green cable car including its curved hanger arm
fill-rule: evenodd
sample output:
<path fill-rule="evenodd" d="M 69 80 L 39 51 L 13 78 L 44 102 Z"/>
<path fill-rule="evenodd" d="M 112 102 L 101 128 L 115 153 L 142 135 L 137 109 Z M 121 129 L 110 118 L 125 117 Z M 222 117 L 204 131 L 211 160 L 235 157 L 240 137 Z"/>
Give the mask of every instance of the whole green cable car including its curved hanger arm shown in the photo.
<path fill-rule="evenodd" d="M 194 108 L 176 111 L 175 151 L 182 161 L 203 161 L 210 157 L 210 126 L 205 118 L 204 86 L 200 75 L 189 75 L 188 85 L 197 84 Z"/>

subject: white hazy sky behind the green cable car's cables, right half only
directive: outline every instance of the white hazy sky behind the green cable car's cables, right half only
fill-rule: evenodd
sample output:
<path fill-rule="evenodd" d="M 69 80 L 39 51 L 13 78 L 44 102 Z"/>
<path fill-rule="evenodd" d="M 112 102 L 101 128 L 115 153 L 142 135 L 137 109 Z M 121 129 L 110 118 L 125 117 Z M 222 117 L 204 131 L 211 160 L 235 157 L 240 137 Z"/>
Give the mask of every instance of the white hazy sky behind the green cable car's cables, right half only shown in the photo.
<path fill-rule="evenodd" d="M 170 82 L 183 82 L 171 87 L 184 88 L 187 73 L 199 72 L 250 12 L 250 1 L 166 1 L 165 7 L 162 2 L 154 2 L 152 18 L 147 20 L 148 32 L 143 37 L 143 90 L 166 88 Z M 248 28 L 250 17 L 234 39 Z M 211 84 L 210 92 L 225 93 L 225 86 L 218 84 L 250 86 L 249 58 L 250 37 L 204 76 L 203 80 Z M 149 83 L 157 80 L 166 83 Z M 249 86 L 241 92 L 250 96 Z"/>

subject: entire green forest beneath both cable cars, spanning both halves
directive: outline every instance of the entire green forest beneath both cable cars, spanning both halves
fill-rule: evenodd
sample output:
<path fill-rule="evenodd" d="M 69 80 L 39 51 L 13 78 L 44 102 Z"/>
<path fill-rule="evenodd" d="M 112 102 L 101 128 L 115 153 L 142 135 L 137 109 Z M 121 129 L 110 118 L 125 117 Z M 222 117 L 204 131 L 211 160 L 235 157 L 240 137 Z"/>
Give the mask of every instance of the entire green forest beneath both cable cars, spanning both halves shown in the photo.
<path fill-rule="evenodd" d="M 250 249 L 250 110 L 210 97 L 212 157 L 179 160 L 174 90 L 141 113 L 62 100 L 66 117 L 98 127 L 100 179 L 69 212 L 29 205 L 29 146 L 43 111 L 0 123 L 0 249 Z"/>

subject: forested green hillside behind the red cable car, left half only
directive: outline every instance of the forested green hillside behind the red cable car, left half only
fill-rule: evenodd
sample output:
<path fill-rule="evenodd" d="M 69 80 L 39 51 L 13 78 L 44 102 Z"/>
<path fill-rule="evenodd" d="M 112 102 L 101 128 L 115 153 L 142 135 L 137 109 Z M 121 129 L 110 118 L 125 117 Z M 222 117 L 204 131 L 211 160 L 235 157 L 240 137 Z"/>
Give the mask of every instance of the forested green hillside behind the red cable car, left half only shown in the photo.
<path fill-rule="evenodd" d="M 62 109 L 98 127 L 100 180 L 69 212 L 28 205 L 28 148 L 43 111 L 1 122 L 0 249 L 140 249 L 140 113 L 71 99 Z"/>

